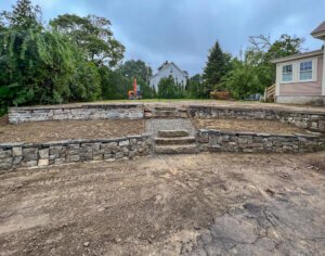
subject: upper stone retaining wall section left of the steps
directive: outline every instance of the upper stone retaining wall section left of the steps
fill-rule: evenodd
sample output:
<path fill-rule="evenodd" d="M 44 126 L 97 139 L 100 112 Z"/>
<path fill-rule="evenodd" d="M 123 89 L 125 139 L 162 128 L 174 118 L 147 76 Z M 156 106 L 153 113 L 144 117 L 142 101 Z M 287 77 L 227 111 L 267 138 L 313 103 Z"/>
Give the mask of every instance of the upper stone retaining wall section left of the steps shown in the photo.
<path fill-rule="evenodd" d="M 138 119 L 143 118 L 143 104 L 86 104 L 66 106 L 10 107 L 9 121 Z"/>

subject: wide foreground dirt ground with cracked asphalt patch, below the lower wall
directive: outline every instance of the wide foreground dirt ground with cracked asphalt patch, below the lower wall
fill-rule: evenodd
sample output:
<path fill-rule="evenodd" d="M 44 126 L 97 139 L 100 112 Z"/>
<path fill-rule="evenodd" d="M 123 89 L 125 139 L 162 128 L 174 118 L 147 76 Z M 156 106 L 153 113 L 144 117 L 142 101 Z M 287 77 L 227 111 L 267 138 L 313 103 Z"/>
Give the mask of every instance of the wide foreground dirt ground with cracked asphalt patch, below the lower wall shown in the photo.
<path fill-rule="evenodd" d="M 0 175 L 0 255 L 321 255 L 325 152 Z"/>

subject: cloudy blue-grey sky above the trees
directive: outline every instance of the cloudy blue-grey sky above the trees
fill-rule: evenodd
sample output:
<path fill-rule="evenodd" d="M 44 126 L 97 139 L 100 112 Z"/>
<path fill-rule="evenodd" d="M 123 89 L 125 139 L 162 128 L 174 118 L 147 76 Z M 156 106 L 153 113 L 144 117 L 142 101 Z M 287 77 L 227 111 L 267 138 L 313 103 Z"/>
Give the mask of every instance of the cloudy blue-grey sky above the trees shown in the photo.
<path fill-rule="evenodd" d="M 321 48 L 310 33 L 325 20 L 325 0 L 32 0 L 44 20 L 58 14 L 95 14 L 110 20 L 126 46 L 125 60 L 141 59 L 154 71 L 173 61 L 190 75 L 200 73 L 209 49 L 219 40 L 238 55 L 251 35 L 282 34 L 306 38 L 304 48 Z M 0 0 L 10 10 L 15 0 Z"/>

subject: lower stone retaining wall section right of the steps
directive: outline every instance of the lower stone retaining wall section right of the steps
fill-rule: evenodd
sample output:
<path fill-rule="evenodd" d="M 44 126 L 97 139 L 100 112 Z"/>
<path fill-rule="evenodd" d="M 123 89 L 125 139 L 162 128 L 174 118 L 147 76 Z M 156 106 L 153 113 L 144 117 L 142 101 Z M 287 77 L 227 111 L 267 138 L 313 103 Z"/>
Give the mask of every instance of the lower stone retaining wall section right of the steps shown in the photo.
<path fill-rule="evenodd" d="M 220 152 L 314 152 L 325 150 L 325 137 L 306 135 L 266 135 L 199 130 L 199 151 Z"/>

